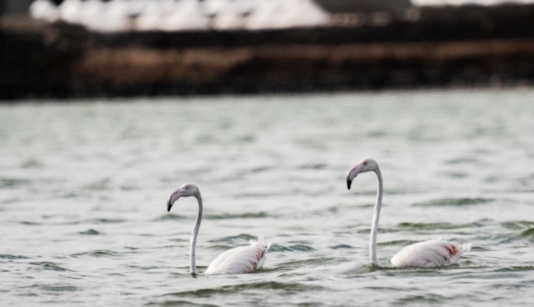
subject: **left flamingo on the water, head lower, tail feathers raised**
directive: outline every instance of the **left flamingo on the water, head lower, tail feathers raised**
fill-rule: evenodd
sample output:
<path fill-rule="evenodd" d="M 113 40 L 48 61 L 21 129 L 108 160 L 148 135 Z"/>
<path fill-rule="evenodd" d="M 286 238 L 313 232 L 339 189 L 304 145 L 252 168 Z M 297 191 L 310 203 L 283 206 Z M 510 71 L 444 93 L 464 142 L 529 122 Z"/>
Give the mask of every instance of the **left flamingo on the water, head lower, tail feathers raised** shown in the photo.
<path fill-rule="evenodd" d="M 194 223 L 193 232 L 191 234 L 191 249 L 189 253 L 189 265 L 191 274 L 197 274 L 197 261 L 195 259 L 195 250 L 197 247 L 197 237 L 199 235 L 200 223 L 202 220 L 202 197 L 200 190 L 194 184 L 183 184 L 180 188 L 169 195 L 167 200 L 167 211 L 171 211 L 171 207 L 180 197 L 193 196 L 199 203 L 199 211 L 197 213 L 197 220 Z M 267 250 L 270 248 L 270 243 L 265 244 L 264 237 L 258 237 L 258 241 L 250 240 L 250 246 L 239 246 L 227 250 L 215 258 L 209 265 L 204 274 L 246 274 L 252 273 L 256 269 L 263 267 L 266 260 Z"/>

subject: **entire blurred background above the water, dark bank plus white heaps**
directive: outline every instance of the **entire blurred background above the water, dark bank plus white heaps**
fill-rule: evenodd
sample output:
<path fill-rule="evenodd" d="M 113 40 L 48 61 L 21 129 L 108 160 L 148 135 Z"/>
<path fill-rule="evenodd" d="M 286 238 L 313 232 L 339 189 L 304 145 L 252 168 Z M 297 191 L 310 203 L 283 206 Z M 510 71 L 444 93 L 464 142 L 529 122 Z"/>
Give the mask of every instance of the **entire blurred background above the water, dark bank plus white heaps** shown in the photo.
<path fill-rule="evenodd" d="M 528 87 L 528 0 L 2 0 L 0 99 Z"/>

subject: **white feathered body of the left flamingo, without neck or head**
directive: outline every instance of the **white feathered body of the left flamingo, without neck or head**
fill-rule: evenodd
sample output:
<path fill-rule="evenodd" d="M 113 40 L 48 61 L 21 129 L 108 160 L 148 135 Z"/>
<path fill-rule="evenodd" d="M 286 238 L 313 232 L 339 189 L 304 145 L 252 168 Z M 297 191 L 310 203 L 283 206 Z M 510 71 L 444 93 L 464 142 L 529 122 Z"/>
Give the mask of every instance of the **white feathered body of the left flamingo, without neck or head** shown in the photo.
<path fill-rule="evenodd" d="M 211 262 L 204 274 L 246 274 L 263 267 L 270 244 L 264 237 L 258 241 L 250 240 L 250 246 L 240 246 L 227 250 Z"/>

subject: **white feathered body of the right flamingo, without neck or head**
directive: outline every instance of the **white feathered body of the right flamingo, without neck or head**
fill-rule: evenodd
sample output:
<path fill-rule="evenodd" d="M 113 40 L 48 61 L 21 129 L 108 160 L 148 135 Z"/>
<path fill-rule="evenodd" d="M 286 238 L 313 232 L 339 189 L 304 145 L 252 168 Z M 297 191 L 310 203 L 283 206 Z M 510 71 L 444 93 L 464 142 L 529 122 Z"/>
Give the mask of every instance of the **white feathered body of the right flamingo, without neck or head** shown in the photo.
<path fill-rule="evenodd" d="M 391 258 L 395 267 L 443 267 L 455 264 L 471 244 L 429 240 L 406 246 Z"/>

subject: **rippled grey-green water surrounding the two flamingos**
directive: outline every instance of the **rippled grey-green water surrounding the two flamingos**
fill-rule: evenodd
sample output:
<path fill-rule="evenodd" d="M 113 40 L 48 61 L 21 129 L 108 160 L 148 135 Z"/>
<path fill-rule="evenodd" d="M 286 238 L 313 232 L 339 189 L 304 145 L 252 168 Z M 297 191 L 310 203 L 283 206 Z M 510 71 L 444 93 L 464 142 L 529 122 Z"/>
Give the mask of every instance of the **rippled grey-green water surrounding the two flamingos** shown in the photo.
<path fill-rule="evenodd" d="M 342 93 L 0 105 L 3 306 L 531 306 L 534 91 Z M 381 267 L 369 260 L 384 177 Z M 188 273 L 264 235 L 266 267 Z M 441 269 L 403 246 L 467 241 Z"/>

